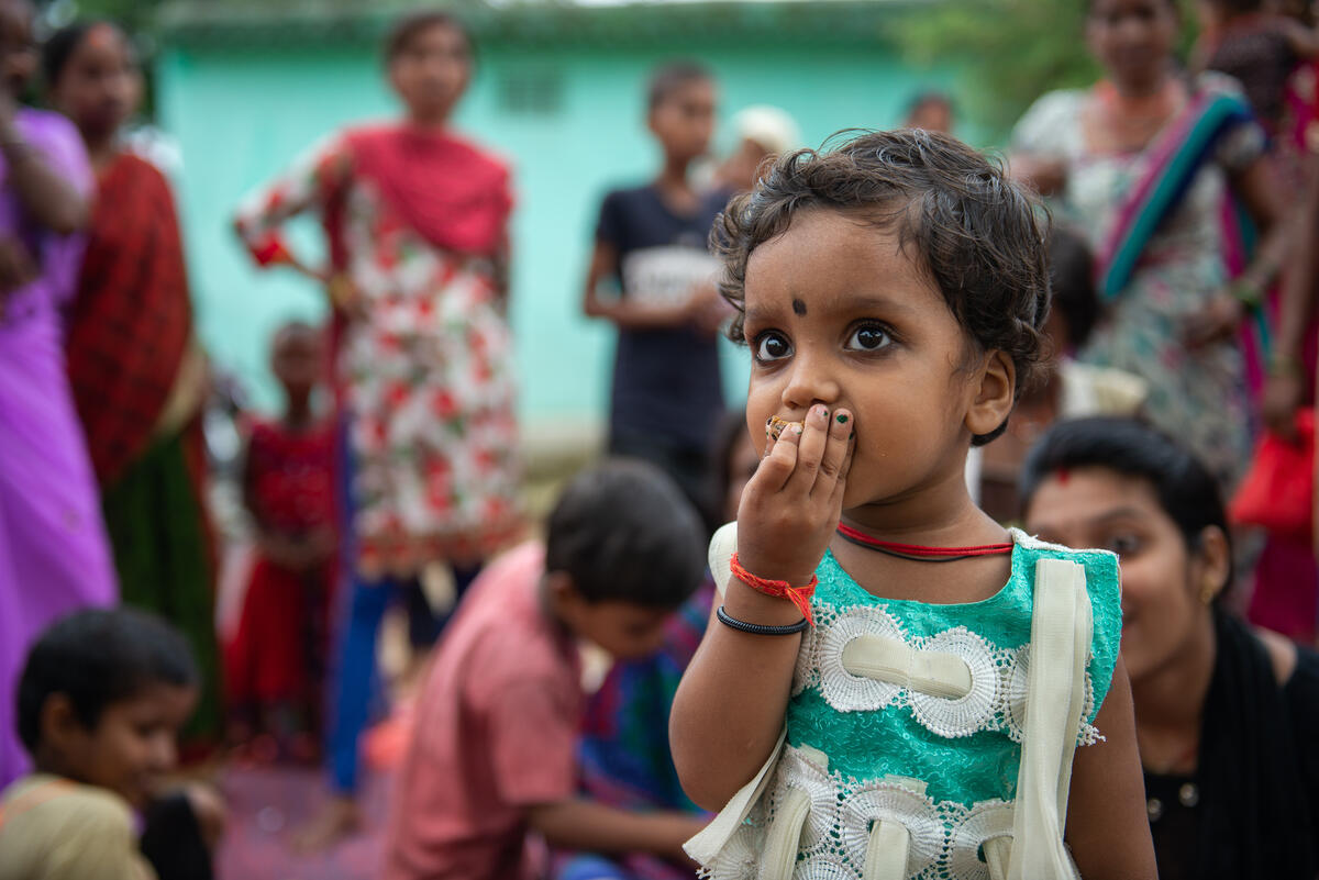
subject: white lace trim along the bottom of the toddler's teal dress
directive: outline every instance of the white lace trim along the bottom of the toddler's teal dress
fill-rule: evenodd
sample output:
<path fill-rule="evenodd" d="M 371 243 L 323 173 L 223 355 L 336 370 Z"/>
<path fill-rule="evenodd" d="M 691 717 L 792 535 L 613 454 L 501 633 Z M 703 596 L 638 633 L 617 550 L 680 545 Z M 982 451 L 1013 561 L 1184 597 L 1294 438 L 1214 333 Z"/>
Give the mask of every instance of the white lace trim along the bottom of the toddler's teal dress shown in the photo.
<path fill-rule="evenodd" d="M 790 789 L 805 793 L 811 804 L 794 880 L 861 880 L 871 829 L 880 819 L 900 822 L 909 831 L 907 876 L 922 880 L 988 880 L 981 844 L 1012 834 L 1008 801 L 980 801 L 967 808 L 930 798 L 913 780 L 859 783 L 827 772 L 807 752 L 793 747 L 783 750 L 774 772 L 770 790 L 716 859 L 702 867 L 702 877 L 754 880 L 774 808 Z"/>

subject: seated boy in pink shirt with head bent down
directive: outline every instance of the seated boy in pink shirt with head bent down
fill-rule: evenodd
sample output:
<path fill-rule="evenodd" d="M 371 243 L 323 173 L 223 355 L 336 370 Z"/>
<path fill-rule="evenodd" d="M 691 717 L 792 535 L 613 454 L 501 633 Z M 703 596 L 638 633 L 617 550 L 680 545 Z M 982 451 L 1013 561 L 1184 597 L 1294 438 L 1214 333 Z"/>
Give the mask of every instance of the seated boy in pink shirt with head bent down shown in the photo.
<path fill-rule="evenodd" d="M 572 480 L 545 543 L 495 560 L 445 634 L 398 775 L 386 880 L 537 876 L 536 835 L 685 859 L 700 819 L 578 797 L 575 642 L 620 659 L 654 651 L 703 573 L 700 522 L 656 468 L 616 461 Z"/>

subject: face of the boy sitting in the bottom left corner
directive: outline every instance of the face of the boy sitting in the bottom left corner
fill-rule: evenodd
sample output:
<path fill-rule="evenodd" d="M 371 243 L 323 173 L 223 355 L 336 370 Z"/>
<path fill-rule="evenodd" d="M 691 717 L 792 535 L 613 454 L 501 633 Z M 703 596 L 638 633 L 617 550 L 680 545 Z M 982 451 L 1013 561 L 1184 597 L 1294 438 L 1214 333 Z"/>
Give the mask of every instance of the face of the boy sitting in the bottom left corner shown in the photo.
<path fill-rule="evenodd" d="M 77 719 L 44 729 L 42 744 L 57 755 L 62 773 L 141 808 L 177 764 L 178 731 L 197 697 L 195 688 L 154 684 L 106 706 L 92 730 Z"/>

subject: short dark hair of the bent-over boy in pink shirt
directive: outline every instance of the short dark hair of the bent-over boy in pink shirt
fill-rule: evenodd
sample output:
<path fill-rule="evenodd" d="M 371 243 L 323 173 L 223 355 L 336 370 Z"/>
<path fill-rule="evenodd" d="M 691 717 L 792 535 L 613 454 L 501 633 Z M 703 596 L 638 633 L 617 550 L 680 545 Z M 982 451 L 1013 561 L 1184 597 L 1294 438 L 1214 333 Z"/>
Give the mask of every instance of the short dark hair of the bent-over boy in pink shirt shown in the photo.
<path fill-rule="evenodd" d="M 696 511 L 642 461 L 607 461 L 574 477 L 547 532 L 545 570 L 566 573 L 587 602 L 678 607 L 706 566 Z"/>

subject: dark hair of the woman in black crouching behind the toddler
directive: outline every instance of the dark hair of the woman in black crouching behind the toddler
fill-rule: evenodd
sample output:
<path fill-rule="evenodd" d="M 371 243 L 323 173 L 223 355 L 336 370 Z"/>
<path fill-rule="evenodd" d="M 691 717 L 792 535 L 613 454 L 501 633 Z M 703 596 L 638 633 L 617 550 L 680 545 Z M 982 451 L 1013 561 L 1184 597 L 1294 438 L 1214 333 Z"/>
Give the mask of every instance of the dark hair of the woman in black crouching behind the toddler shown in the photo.
<path fill-rule="evenodd" d="M 1022 511 L 1045 480 L 1078 468 L 1103 468 L 1149 483 L 1187 549 L 1196 549 L 1204 530 L 1217 526 L 1231 552 L 1232 532 L 1217 481 L 1199 458 L 1162 431 L 1115 416 L 1057 423 L 1026 454 L 1017 483 Z"/>

